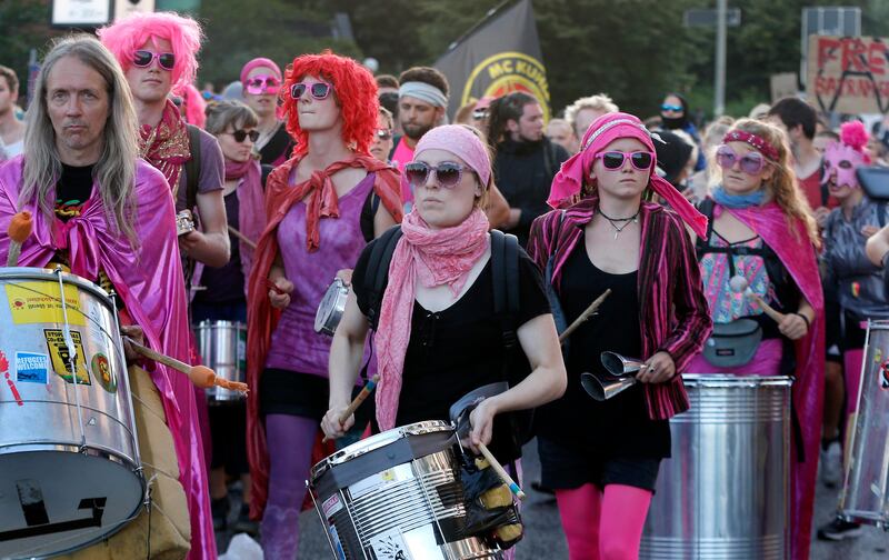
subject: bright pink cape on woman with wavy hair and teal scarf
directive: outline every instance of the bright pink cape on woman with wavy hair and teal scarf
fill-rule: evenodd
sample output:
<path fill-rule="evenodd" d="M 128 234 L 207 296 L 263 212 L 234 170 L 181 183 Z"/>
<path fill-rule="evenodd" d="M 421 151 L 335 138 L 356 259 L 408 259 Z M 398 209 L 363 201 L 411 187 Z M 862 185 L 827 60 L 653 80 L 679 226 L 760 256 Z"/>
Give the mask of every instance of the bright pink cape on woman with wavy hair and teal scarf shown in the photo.
<path fill-rule="evenodd" d="M 775 202 L 752 209 L 726 210 L 756 231 L 781 259 L 802 296 L 815 308 L 815 321 L 809 333 L 795 342 L 797 370 L 793 382 L 793 407 L 802 429 L 805 461 L 792 444 L 792 511 L 791 546 L 795 560 L 809 558 L 812 508 L 815 502 L 818 446 L 821 441 L 821 414 L 825 398 L 825 299 L 815 247 L 806 227 L 787 216 Z"/>

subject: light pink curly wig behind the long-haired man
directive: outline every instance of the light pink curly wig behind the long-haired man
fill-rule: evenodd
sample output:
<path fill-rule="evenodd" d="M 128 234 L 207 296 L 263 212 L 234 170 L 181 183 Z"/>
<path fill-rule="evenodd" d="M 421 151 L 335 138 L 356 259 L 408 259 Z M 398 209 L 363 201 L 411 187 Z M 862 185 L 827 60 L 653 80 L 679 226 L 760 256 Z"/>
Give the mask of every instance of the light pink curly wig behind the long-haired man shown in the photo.
<path fill-rule="evenodd" d="M 174 92 L 192 83 L 198 74 L 197 54 L 203 33 L 197 21 L 173 12 L 136 12 L 97 31 L 102 44 L 114 53 L 126 72 L 132 68 L 133 54 L 149 39 L 166 39 L 173 47 L 176 64 L 172 70 Z"/>

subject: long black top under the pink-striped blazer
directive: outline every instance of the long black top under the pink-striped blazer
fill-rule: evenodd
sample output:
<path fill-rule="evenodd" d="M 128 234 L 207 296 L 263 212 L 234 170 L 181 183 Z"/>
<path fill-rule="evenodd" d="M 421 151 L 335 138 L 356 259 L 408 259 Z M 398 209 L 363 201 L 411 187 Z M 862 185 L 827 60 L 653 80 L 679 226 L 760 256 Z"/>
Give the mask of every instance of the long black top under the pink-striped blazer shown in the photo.
<path fill-rule="evenodd" d="M 601 353 L 610 350 L 640 358 L 639 272 L 611 274 L 599 270 L 578 243 L 565 263 L 559 301 L 570 324 L 607 289 L 611 294 L 570 338 L 566 367 L 568 389 L 561 399 L 537 411 L 538 433 L 569 446 L 581 446 L 603 458 L 663 458 L 670 456 L 670 426 L 648 417 L 645 392 L 637 383 L 611 399 L 593 400 L 580 384 L 580 374 L 605 372 Z"/>

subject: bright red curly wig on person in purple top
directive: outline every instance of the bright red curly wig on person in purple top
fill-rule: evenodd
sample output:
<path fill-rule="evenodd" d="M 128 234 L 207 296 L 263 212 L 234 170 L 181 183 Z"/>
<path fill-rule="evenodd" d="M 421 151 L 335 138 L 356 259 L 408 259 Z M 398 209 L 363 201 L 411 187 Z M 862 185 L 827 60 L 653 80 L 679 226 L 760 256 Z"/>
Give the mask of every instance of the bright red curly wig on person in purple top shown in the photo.
<path fill-rule="evenodd" d="M 308 133 L 299 128 L 298 99 L 290 97 L 290 88 L 307 76 L 316 76 L 333 86 L 333 97 L 342 114 L 342 140 L 353 146 L 358 153 L 369 153 L 373 130 L 377 128 L 377 82 L 373 76 L 354 60 L 324 50 L 320 54 L 302 54 L 287 67 L 281 88 L 281 111 L 287 131 L 297 147 L 293 153 L 303 156 L 309 149 Z"/>

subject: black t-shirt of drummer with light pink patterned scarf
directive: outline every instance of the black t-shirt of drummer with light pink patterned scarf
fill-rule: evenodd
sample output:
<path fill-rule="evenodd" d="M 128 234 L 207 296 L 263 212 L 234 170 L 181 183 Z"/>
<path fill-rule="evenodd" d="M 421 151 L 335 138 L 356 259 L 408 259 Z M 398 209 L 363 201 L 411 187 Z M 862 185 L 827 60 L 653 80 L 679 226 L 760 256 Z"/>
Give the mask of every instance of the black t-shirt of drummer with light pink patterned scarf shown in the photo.
<path fill-rule="evenodd" d="M 361 253 L 352 276 L 358 307 L 366 316 L 369 302 L 364 276 L 374 243 Z M 518 281 L 516 329 L 550 312 L 540 271 L 523 250 L 519 250 Z M 463 394 L 503 380 L 503 360 L 502 327 L 493 313 L 493 272 L 488 261 L 472 286 L 448 309 L 433 313 L 414 300 L 396 426 L 449 420 L 451 404 Z M 495 433 L 491 440 L 492 452 L 501 459 L 510 454 L 498 450 L 498 441 L 506 439 Z"/>

